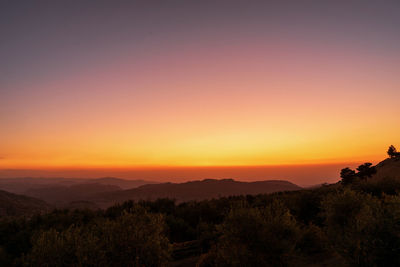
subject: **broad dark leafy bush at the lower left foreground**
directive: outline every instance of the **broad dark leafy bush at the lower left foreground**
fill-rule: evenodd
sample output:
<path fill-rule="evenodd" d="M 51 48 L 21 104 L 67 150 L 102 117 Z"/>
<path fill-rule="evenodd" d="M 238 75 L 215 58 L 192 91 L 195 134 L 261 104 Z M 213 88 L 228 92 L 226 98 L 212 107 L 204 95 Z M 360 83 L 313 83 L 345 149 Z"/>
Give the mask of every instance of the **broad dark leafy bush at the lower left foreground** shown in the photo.
<path fill-rule="evenodd" d="M 164 266 L 170 258 L 163 216 L 140 209 L 86 227 L 43 231 L 32 243 L 28 266 Z"/>

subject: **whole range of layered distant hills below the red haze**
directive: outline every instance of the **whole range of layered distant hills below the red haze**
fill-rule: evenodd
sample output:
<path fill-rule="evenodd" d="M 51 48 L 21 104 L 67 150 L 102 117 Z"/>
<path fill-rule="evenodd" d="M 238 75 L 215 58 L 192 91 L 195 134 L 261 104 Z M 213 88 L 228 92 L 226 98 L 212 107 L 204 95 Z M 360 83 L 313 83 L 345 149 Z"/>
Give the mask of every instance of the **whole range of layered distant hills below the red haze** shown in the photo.
<path fill-rule="evenodd" d="M 185 183 L 159 183 L 119 178 L 10 178 L 0 179 L 0 189 L 46 201 L 55 207 L 108 207 L 126 200 L 171 198 L 177 202 L 222 196 L 267 194 L 299 190 L 288 181 L 239 182 L 206 179 Z"/>

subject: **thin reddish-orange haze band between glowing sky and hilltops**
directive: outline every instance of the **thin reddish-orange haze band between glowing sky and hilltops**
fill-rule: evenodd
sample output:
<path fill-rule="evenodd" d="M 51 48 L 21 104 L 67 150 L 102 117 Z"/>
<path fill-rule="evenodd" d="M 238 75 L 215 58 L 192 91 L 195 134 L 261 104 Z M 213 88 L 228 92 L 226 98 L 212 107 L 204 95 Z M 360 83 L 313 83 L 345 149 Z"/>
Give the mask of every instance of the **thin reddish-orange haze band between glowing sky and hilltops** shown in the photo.
<path fill-rule="evenodd" d="M 355 168 L 360 163 L 277 165 L 277 166 L 213 166 L 213 167 L 142 167 L 123 169 L 3 169 L 1 178 L 102 178 L 147 180 L 160 183 L 182 183 L 203 179 L 234 179 L 237 181 L 287 180 L 299 186 L 336 183 L 340 170 Z"/>

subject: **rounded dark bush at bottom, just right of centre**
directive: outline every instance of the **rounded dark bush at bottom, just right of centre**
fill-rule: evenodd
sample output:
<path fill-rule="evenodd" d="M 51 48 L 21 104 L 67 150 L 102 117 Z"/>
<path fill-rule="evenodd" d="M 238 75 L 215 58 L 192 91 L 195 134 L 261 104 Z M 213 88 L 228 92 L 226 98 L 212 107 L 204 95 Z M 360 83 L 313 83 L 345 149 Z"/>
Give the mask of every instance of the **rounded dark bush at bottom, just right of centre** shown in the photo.
<path fill-rule="evenodd" d="M 281 266 L 289 262 L 299 228 L 282 202 L 266 208 L 233 209 L 203 265 Z"/>

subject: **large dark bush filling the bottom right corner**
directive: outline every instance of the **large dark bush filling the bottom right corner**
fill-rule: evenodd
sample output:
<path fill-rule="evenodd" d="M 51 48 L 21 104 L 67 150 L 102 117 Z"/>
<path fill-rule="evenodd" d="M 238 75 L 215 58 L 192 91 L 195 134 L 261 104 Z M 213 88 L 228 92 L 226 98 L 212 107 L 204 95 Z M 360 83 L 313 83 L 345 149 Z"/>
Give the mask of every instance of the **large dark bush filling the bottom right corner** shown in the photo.
<path fill-rule="evenodd" d="M 323 201 L 325 231 L 355 266 L 399 266 L 400 198 L 378 199 L 345 189 Z"/>

